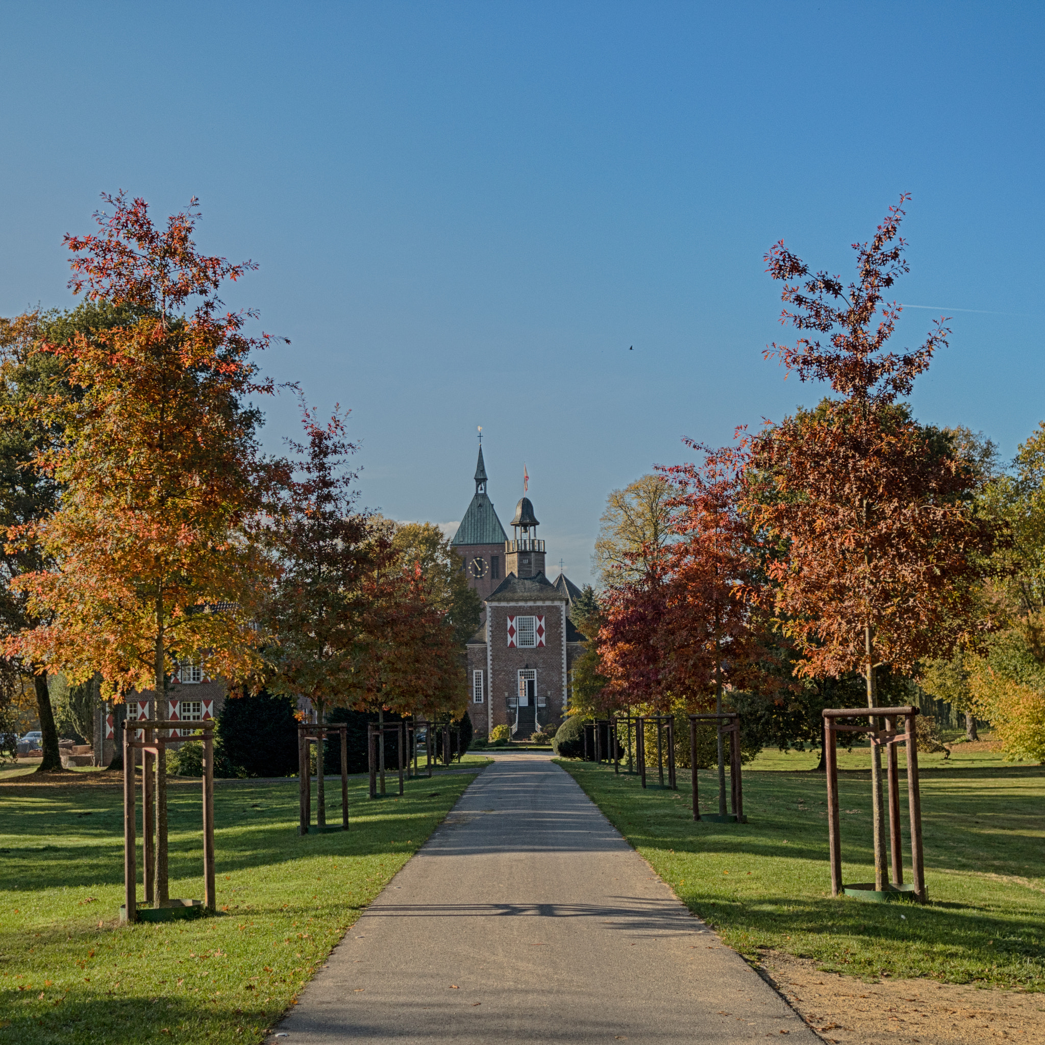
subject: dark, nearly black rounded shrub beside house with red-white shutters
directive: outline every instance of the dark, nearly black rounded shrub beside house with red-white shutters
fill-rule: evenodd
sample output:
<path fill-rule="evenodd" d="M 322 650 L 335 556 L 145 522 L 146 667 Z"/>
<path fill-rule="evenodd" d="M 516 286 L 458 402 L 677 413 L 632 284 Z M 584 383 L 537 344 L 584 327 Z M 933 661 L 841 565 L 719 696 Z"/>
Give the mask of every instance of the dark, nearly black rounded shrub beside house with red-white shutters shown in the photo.
<path fill-rule="evenodd" d="M 294 776 L 298 772 L 297 710 L 294 697 L 264 691 L 229 697 L 217 716 L 215 775 Z M 231 771 L 223 767 L 223 758 Z"/>

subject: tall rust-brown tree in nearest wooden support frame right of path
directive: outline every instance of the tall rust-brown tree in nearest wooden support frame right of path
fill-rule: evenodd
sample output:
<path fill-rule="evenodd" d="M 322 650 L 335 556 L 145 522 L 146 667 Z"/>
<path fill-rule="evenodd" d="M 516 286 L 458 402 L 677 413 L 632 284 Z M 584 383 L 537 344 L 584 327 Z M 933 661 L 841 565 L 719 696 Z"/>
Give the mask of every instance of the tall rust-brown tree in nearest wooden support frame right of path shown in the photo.
<path fill-rule="evenodd" d="M 829 382 L 839 398 L 752 440 L 752 473 L 772 493 L 752 482 L 747 496 L 756 524 L 786 543 L 771 577 L 776 610 L 803 654 L 798 673 L 859 671 L 869 707 L 878 705 L 879 665 L 910 673 L 920 658 L 954 648 L 968 627 L 976 556 L 990 543 L 971 506 L 972 470 L 897 401 L 948 334 L 940 320 L 913 351 L 887 348 L 901 307 L 884 294 L 908 271 L 906 199 L 869 242 L 854 245 L 857 278 L 847 286 L 812 273 L 783 242 L 766 255 L 784 284 L 781 321 L 800 332 L 767 355 L 803 381 Z M 878 743 L 872 787 L 881 889 L 888 872 Z"/>

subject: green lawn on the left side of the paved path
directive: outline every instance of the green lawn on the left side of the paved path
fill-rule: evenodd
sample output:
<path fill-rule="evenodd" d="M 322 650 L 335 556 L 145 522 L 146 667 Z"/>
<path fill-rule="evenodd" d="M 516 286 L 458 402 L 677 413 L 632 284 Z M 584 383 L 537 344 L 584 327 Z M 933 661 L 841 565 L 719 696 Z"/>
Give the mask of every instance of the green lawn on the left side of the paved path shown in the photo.
<path fill-rule="evenodd" d="M 0 785 L 0 1039 L 258 1041 L 472 780 L 439 773 L 372 803 L 353 779 L 351 830 L 304 838 L 297 780 L 219 783 L 219 913 L 135 926 L 117 921 L 119 786 Z M 169 796 L 170 895 L 202 899 L 199 782 Z M 331 787 L 328 822 L 340 802 Z"/>

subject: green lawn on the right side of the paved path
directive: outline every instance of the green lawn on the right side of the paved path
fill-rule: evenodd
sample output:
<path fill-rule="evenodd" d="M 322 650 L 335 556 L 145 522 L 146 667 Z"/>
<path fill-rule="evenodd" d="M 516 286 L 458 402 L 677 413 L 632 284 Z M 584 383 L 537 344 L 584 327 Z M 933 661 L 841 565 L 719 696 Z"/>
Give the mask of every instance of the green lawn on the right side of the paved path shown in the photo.
<path fill-rule="evenodd" d="M 803 758 L 815 764 L 800 752 L 761 764 Z M 612 768 L 560 765 L 679 898 L 748 958 L 775 948 L 863 977 L 1045 991 L 1045 767 L 1003 765 L 993 752 L 955 754 L 946 768 L 937 759 L 920 757 L 924 907 L 832 899 L 822 773 L 759 769 L 757 760 L 744 769 L 749 822 L 720 825 L 693 821 L 689 770 L 679 771 L 677 793 L 644 792 L 636 777 Z M 866 750 L 846 761 L 866 765 Z M 702 808 L 716 811 L 714 775 L 701 772 L 699 786 Z M 874 878 L 869 772 L 840 772 L 839 792 L 843 879 L 865 882 Z M 905 866 L 909 880 L 909 856 Z"/>

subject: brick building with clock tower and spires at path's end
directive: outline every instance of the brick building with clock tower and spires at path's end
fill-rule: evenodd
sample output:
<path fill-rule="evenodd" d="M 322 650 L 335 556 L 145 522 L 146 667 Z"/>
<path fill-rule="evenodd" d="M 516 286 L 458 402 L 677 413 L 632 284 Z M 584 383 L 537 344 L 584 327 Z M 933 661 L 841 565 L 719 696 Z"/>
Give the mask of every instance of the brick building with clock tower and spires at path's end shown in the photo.
<path fill-rule="evenodd" d="M 584 650 L 568 617 L 580 590 L 561 573 L 554 584 L 544 575 L 544 541 L 529 497 L 515 506 L 513 536 L 506 536 L 486 492 L 482 447 L 474 482 L 452 540 L 483 600 L 483 623 L 468 641 L 468 711 L 477 735 L 507 725 L 513 739 L 526 740 L 562 724 L 573 661 Z"/>

